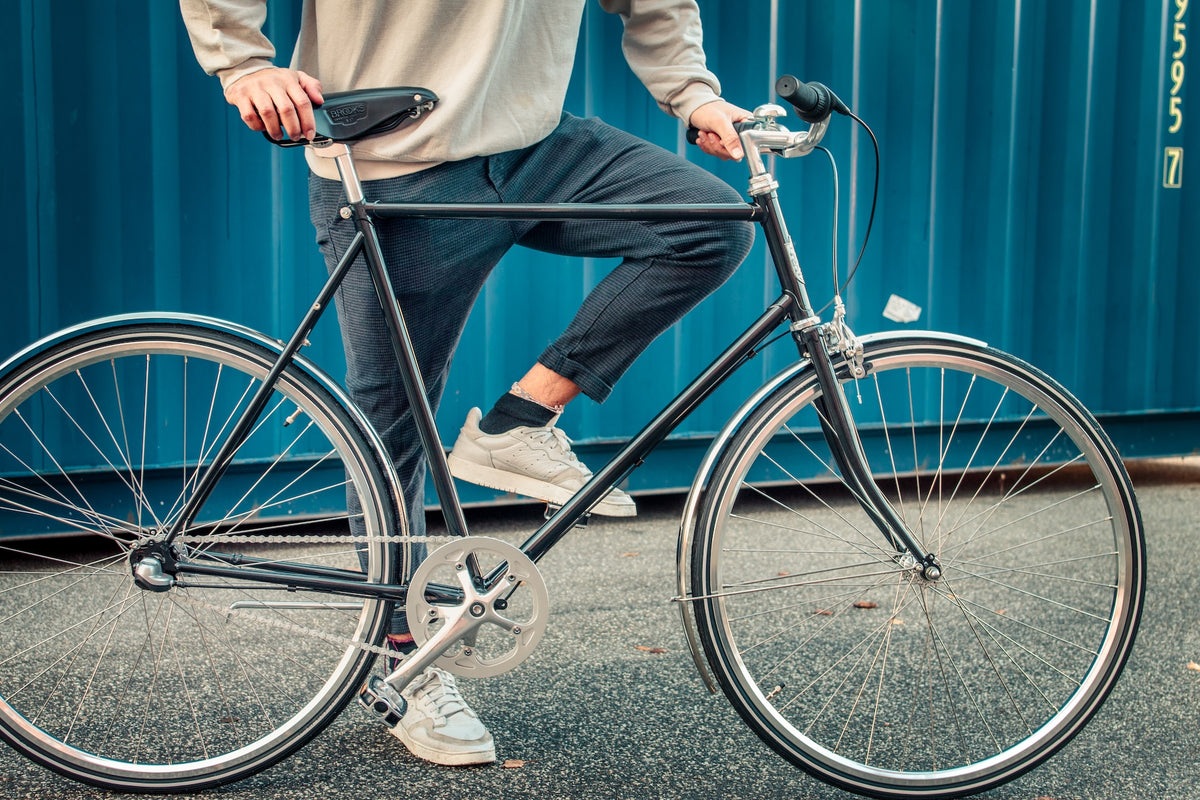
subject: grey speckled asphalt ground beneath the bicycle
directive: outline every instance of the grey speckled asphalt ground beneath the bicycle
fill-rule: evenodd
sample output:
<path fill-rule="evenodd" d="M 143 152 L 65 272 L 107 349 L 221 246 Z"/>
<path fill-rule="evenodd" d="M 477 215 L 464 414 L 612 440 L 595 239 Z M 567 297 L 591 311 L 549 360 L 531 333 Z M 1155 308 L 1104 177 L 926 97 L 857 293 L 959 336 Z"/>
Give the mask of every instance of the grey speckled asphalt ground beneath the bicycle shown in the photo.
<path fill-rule="evenodd" d="M 1150 578 L 1138 644 L 1087 728 L 994 800 L 1200 798 L 1200 459 L 1130 464 Z M 203 798 L 844 799 L 775 756 L 688 654 L 674 591 L 682 497 L 643 498 L 635 521 L 596 519 L 541 564 L 552 615 L 530 658 L 463 681 L 499 763 L 419 762 L 356 706 L 282 764 Z M 541 510 L 470 512 L 472 531 L 520 541 Z M 517 763 L 504 766 L 504 762 Z M 0 798 L 124 798 L 0 747 Z"/>

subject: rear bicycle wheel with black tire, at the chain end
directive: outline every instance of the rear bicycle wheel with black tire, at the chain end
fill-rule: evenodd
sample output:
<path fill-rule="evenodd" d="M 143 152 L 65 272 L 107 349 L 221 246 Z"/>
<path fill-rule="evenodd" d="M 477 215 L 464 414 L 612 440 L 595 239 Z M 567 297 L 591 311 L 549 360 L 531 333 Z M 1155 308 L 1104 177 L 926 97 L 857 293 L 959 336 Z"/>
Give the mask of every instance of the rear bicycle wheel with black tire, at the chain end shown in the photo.
<path fill-rule="evenodd" d="M 0 375 L 0 735 L 68 777 L 136 792 L 196 790 L 292 753 L 361 686 L 391 603 L 318 608 L 346 599 L 199 576 L 146 591 L 130 558 L 178 515 L 276 354 L 178 321 L 28 353 Z M 181 537 L 187 558 L 394 582 L 407 549 L 382 540 L 403 517 L 374 439 L 326 384 L 284 371 Z M 365 545 L 348 543 L 347 487 Z"/>

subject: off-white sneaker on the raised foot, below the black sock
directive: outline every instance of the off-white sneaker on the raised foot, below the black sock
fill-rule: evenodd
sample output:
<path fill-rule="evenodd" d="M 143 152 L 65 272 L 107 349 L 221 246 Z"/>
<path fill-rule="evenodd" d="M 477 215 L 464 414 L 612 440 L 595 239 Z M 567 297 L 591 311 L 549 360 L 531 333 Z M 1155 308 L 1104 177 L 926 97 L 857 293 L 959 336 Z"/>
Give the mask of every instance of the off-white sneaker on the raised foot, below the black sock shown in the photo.
<path fill-rule="evenodd" d="M 494 435 L 479 429 L 481 419 L 478 408 L 467 414 L 446 459 L 455 477 L 558 506 L 592 477 L 592 470 L 571 452 L 566 434 L 553 427 L 558 417 L 544 428 L 521 426 Z M 592 507 L 592 513 L 634 517 L 637 506 L 631 497 L 612 489 Z"/>

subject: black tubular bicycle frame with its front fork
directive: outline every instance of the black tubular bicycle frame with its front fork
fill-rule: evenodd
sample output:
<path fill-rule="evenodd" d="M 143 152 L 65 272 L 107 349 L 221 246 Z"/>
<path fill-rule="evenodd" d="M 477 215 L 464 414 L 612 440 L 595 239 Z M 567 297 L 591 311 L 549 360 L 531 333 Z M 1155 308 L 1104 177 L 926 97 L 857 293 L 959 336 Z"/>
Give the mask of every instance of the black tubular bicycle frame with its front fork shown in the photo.
<path fill-rule="evenodd" d="M 400 308 L 395 290 L 388 278 L 383 251 L 373 219 L 376 217 L 437 218 L 437 219 L 527 219 L 548 221 L 673 221 L 673 219 L 740 219 L 758 223 L 767 239 L 767 245 L 775 265 L 782 293 L 770 303 L 740 336 L 738 336 L 696 379 L 679 392 L 642 431 L 630 439 L 620 451 L 557 512 L 554 512 L 529 539 L 521 549 L 534 561 L 540 560 L 562 540 L 580 518 L 598 503 L 607 491 L 636 469 L 644 457 L 654 450 L 672 431 L 674 431 L 695 408 L 712 395 L 745 361 L 754 357 L 758 348 L 770 337 L 782 323 L 788 323 L 802 356 L 808 356 L 817 368 L 818 380 L 824 389 L 821 403 L 822 429 L 834 458 L 864 510 L 875 521 L 884 536 L 898 551 L 907 548 L 918 560 L 931 563 L 931 557 L 920 552 L 912 541 L 911 534 L 895 515 L 895 511 L 883 499 L 882 493 L 870 479 L 862 455 L 860 444 L 850 410 L 841 393 L 832 357 L 821 344 L 820 333 L 812 309 L 809 307 L 798 270 L 792 269 L 788 258 L 791 251 L 786 230 L 779 216 L 778 200 L 774 193 L 757 197 L 750 204 L 386 204 L 359 200 L 349 203 L 350 218 L 354 219 L 358 233 L 346 253 L 330 272 L 329 281 L 322 288 L 317 300 L 305 314 L 296 331 L 280 353 L 276 362 L 256 392 L 242 419 L 235 426 L 230 437 L 214 457 L 212 464 L 205 470 L 203 480 L 188 499 L 184 512 L 167 533 L 169 545 L 182 530 L 192 524 L 200 506 L 208 499 L 216 482 L 233 461 L 238 449 L 254 423 L 258 414 L 265 408 L 276 379 L 292 362 L 308 333 L 317 325 L 322 313 L 329 306 L 335 291 L 344 281 L 350 267 L 361 255 L 366 261 L 384 309 L 388 331 L 391 339 L 404 391 L 413 408 L 413 419 L 418 435 L 428 462 L 430 476 L 433 480 L 445 524 L 451 535 L 466 536 L 467 522 L 462 504 L 455 489 L 454 479 L 446 464 L 445 451 L 437 432 L 433 410 L 425 392 L 416 355 L 413 349 L 403 312 Z M 794 258 L 794 257 L 793 257 Z M 254 581 L 272 585 L 304 588 L 328 591 L 330 594 L 359 597 L 380 597 L 404 602 L 407 587 L 402 584 L 368 584 L 361 573 L 342 570 L 312 570 L 304 565 L 290 565 L 274 561 L 262 567 L 241 559 L 238 566 L 226 560 L 218 553 L 205 554 L 203 563 L 181 559 L 176 564 L 179 573 L 205 575 L 239 581 Z M 244 565 L 244 566 L 242 566 Z M 449 589 L 449 588 L 448 588 Z"/>

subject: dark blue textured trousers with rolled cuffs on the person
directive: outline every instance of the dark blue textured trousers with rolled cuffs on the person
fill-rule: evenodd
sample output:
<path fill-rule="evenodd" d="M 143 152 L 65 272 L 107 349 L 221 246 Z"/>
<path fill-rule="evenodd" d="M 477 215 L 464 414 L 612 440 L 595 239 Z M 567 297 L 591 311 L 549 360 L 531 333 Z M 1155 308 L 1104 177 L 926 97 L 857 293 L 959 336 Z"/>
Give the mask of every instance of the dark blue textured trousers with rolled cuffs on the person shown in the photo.
<path fill-rule="evenodd" d="M 367 181 L 364 192 L 380 203 L 742 200 L 727 184 L 674 154 L 598 119 L 570 114 L 548 137 L 523 150 Z M 338 213 L 344 205 L 340 182 L 310 176 L 312 224 L 329 269 L 354 236 L 353 222 Z M 470 308 L 511 247 L 622 259 L 538 357 L 602 402 L 655 337 L 733 273 L 754 237 L 752 225 L 738 221 L 377 219 L 376 224 L 434 411 Z M 392 458 L 410 533 L 424 534 L 425 458 L 365 263 L 350 270 L 336 303 L 346 389 Z"/>

